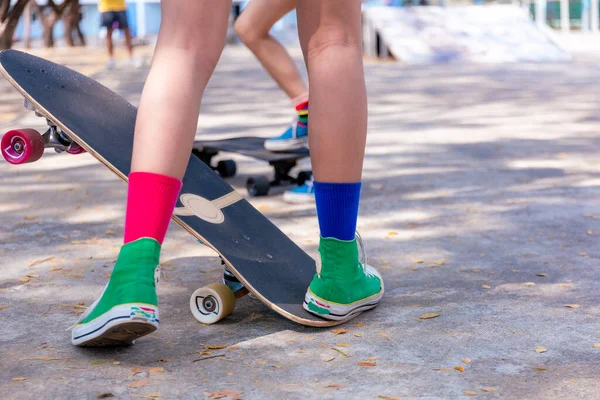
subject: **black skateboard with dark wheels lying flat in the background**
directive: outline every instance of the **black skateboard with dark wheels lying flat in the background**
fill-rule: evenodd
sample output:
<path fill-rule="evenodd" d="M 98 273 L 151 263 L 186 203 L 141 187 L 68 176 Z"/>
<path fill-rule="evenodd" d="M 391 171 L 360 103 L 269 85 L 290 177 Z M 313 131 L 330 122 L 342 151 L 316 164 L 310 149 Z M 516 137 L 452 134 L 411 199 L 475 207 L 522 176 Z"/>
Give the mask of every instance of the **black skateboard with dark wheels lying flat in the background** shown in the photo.
<path fill-rule="evenodd" d="M 273 152 L 265 149 L 265 139 L 259 137 L 238 137 L 233 139 L 215 141 L 196 141 L 192 151 L 212 169 L 217 171 L 222 178 L 229 178 L 236 174 L 237 166 L 233 160 L 221 160 L 213 165 L 212 159 L 220 152 L 238 153 L 257 160 L 266 161 L 273 167 L 274 179 L 267 176 L 253 176 L 246 181 L 246 189 L 250 196 L 266 196 L 274 186 L 284 184 L 304 184 L 312 177 L 312 171 L 300 171 L 294 178 L 290 171 L 298 160 L 310 156 L 307 148 L 290 150 L 286 152 Z"/>

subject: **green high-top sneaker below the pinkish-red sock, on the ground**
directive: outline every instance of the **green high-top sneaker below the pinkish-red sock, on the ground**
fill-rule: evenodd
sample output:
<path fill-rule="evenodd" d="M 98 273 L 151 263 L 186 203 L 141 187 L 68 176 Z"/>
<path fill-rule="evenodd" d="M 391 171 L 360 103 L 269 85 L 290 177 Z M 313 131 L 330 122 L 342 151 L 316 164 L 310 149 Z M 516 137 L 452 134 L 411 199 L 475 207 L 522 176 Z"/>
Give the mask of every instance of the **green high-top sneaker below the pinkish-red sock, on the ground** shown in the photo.
<path fill-rule="evenodd" d="M 73 328 L 75 346 L 130 345 L 158 329 L 159 258 L 160 244 L 154 239 L 121 248 L 104 291 Z"/>

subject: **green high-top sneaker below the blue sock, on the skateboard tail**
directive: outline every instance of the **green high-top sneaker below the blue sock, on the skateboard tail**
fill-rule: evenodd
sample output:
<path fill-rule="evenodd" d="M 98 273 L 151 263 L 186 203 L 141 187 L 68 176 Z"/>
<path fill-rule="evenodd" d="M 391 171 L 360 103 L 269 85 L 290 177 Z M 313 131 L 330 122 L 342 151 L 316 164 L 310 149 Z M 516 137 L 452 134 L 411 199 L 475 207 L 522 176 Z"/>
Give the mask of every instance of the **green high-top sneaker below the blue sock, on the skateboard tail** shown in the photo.
<path fill-rule="evenodd" d="M 304 297 L 304 309 L 344 320 L 375 308 L 382 297 L 383 279 L 375 268 L 359 261 L 356 239 L 321 238 L 317 273 Z"/>

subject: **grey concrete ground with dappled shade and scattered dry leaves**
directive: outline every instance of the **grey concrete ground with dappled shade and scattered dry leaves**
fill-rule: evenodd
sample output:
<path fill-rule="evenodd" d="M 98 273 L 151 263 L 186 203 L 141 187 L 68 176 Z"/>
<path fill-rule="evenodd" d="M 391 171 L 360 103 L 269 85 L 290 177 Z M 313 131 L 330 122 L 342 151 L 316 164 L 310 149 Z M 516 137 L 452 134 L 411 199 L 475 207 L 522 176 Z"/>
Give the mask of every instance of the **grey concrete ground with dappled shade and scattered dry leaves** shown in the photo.
<path fill-rule="evenodd" d="M 46 56 L 138 102 L 147 68 L 106 71 L 85 54 Z M 344 331 L 296 325 L 249 297 L 202 326 L 188 300 L 219 278 L 218 258 L 173 224 L 161 329 L 131 348 L 74 348 L 67 328 L 114 264 L 126 186 L 89 155 L 0 162 L 2 397 L 597 399 L 599 60 L 367 62 L 359 229 L 387 292 Z M 0 93 L 2 131 L 43 128 L 3 80 Z M 275 135 L 291 117 L 248 51 L 229 47 L 198 137 Z M 245 195 L 245 179 L 269 168 L 232 157 Z M 312 207 L 277 193 L 251 201 L 315 254 Z"/>

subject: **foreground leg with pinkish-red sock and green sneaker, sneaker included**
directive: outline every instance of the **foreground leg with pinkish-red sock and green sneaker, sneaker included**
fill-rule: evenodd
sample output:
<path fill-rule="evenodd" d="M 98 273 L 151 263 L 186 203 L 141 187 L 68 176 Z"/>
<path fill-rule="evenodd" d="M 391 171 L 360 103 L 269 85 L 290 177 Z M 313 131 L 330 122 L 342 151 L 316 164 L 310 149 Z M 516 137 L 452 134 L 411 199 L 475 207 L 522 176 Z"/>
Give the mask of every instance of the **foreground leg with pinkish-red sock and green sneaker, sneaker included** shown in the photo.
<path fill-rule="evenodd" d="M 131 344 L 159 323 L 155 273 L 187 167 L 200 100 L 223 45 L 231 1 L 163 0 L 138 111 L 125 245 L 100 298 L 73 329 L 80 346 Z"/>

